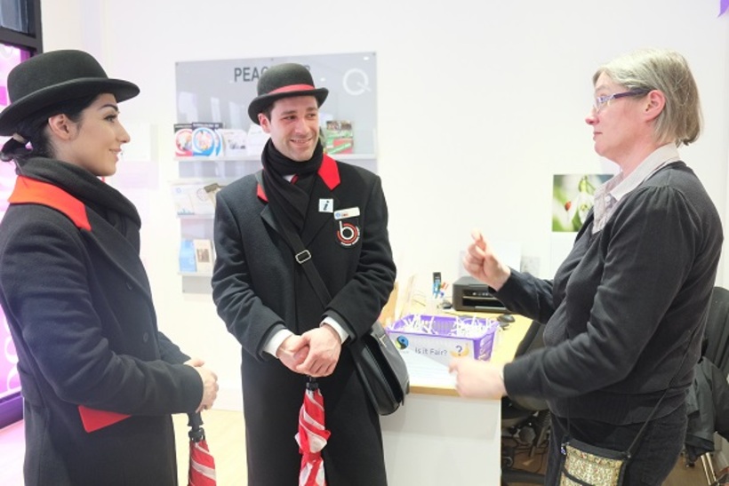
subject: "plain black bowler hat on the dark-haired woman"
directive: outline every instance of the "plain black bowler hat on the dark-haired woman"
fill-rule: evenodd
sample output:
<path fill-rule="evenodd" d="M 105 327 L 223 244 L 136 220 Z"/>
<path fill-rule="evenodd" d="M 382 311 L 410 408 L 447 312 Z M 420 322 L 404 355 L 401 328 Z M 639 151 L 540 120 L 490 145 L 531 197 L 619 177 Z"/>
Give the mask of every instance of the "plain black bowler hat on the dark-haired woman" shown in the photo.
<path fill-rule="evenodd" d="M 137 96 L 140 88 L 110 79 L 87 52 L 63 50 L 33 56 L 8 75 L 11 104 L 0 112 L 0 135 L 12 135 L 21 120 L 43 108 L 101 93 L 111 93 L 121 102 Z"/>

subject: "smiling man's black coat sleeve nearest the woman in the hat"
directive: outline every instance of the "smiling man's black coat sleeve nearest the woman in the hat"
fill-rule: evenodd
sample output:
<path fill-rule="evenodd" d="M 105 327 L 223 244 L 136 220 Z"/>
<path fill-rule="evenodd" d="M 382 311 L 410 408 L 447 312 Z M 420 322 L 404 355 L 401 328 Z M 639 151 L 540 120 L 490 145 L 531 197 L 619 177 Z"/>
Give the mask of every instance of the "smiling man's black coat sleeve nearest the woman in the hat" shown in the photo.
<path fill-rule="evenodd" d="M 228 332 L 249 354 L 260 360 L 272 359 L 263 351 L 272 332 L 284 329 L 284 320 L 265 306 L 253 291 L 242 222 L 230 209 L 223 193 L 215 204 L 215 267 L 212 272 L 212 299 Z"/>

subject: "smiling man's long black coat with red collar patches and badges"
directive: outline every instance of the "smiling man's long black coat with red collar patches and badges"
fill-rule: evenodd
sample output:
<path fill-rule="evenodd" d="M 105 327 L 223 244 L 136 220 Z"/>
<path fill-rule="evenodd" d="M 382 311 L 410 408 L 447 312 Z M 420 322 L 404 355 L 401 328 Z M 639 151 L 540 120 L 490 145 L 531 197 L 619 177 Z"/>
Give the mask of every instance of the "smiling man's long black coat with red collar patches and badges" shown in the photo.
<path fill-rule="evenodd" d="M 332 376 L 318 380 L 332 431 L 323 451 L 327 483 L 386 483 L 379 417 L 367 402 L 347 344 L 372 326 L 395 281 L 387 203 L 381 179 L 370 171 L 324 156 L 318 175 L 301 239 L 333 296 L 325 309 L 284 243 L 255 176 L 217 195 L 213 299 L 243 347 L 248 482 L 256 486 L 297 483 L 294 434 L 306 381 L 263 347 L 276 326 L 301 334 L 318 326 L 323 315 L 334 317 L 351 337 Z M 359 216 L 336 220 L 327 202 L 335 211 L 357 208 Z M 359 238 L 348 241 L 352 234 L 345 231 L 342 242 L 340 224 L 358 228 Z"/>

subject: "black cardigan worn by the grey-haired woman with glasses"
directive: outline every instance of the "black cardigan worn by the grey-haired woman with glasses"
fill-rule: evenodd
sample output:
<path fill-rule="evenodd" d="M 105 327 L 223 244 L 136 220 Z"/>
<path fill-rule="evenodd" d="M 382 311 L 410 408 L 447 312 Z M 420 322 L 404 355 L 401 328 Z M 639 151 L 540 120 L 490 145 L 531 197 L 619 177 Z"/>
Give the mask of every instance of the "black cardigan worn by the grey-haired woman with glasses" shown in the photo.
<path fill-rule="evenodd" d="M 513 271 L 497 292 L 547 324 L 547 347 L 508 364 L 506 388 L 547 398 L 559 417 L 622 425 L 645 420 L 673 380 L 659 418 L 693 379 L 721 221 L 682 162 L 646 179 L 595 235 L 593 221 L 590 213 L 553 282 Z"/>

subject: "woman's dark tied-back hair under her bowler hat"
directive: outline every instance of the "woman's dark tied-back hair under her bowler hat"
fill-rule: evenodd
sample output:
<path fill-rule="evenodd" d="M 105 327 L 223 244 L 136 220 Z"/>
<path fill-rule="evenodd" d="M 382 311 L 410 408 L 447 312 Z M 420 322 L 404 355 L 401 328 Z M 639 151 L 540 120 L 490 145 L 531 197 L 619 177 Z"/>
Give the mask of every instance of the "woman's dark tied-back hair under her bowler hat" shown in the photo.
<path fill-rule="evenodd" d="M 44 108 L 36 113 L 25 117 L 15 127 L 15 132 L 25 141 L 15 137 L 5 142 L 0 149 L 0 159 L 5 162 L 14 160 L 18 165 L 22 165 L 29 157 L 54 156 L 54 150 L 45 127 L 48 125 L 48 118 L 56 115 L 68 116 L 68 119 L 74 123 L 81 120 L 81 112 L 88 108 L 94 100 L 99 97 L 98 94 L 85 96 L 84 98 L 76 98 L 76 100 L 68 100 L 51 107 Z M 30 142 L 30 148 L 27 145 Z"/>

